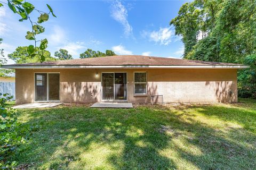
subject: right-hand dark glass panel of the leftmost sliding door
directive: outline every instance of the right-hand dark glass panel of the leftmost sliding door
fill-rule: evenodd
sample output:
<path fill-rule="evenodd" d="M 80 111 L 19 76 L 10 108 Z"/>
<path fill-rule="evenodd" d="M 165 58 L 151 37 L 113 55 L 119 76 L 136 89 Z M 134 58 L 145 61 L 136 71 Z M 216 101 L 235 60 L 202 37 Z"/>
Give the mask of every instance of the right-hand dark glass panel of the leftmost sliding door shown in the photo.
<path fill-rule="evenodd" d="M 49 74 L 49 100 L 60 100 L 60 74 Z"/>

